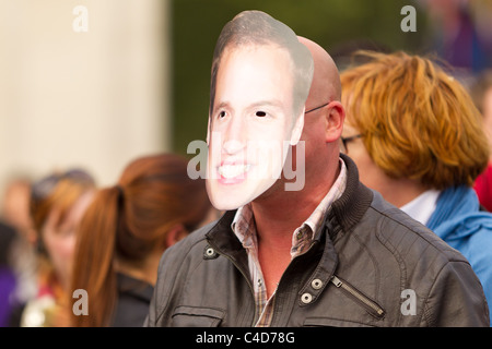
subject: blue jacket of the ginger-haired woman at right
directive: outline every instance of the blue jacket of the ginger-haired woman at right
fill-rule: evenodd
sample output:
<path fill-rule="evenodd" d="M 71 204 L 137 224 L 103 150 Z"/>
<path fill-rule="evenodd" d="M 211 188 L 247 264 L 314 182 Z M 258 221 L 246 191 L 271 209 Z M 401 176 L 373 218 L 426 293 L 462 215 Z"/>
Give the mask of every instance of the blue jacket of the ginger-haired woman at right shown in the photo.
<path fill-rule="evenodd" d="M 480 210 L 471 188 L 454 186 L 441 193 L 426 226 L 470 262 L 492 316 L 492 214 Z"/>

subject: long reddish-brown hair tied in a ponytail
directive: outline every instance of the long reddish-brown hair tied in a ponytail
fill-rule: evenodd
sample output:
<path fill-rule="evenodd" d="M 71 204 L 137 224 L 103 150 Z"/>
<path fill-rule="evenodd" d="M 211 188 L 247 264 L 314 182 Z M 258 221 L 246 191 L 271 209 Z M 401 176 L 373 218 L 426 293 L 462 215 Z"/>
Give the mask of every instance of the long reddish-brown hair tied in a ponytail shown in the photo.
<path fill-rule="evenodd" d="M 96 193 L 82 219 L 73 269 L 73 289 L 89 297 L 89 316 L 75 326 L 108 326 L 117 299 L 115 261 L 138 263 L 176 224 L 192 231 L 209 212 L 204 181 L 187 176 L 178 155 L 141 157 L 124 171 L 118 184 Z M 165 246 L 163 246 L 164 249 Z"/>

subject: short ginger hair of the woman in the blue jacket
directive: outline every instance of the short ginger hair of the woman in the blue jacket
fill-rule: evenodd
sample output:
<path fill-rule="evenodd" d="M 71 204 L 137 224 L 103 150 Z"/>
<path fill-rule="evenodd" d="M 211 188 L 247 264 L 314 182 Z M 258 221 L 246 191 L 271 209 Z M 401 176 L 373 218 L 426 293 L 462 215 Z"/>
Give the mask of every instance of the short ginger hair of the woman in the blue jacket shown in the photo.
<path fill-rule="evenodd" d="M 426 58 L 359 55 L 370 62 L 342 72 L 342 103 L 373 161 L 391 178 L 438 190 L 471 185 L 489 146 L 465 87 Z"/>

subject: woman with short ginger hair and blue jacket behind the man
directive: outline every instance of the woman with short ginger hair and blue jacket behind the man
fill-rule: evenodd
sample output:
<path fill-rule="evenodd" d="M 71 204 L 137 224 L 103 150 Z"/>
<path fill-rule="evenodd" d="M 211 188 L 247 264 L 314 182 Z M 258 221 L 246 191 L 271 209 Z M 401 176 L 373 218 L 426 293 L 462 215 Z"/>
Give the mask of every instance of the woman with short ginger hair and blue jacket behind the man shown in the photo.
<path fill-rule="evenodd" d="M 365 52 L 341 74 L 342 152 L 361 182 L 461 252 L 492 314 L 492 215 L 473 181 L 489 161 L 482 118 L 458 80 L 432 60 Z"/>

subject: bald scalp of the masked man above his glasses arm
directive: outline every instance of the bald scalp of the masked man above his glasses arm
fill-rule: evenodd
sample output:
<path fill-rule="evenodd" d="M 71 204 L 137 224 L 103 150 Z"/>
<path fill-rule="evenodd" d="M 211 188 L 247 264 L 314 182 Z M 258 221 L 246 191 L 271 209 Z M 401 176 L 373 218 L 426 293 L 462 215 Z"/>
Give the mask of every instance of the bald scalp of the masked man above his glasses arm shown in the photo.
<path fill-rule="evenodd" d="M 318 44 L 302 36 L 297 38 L 311 51 L 315 65 L 306 109 L 315 108 L 331 100 L 340 100 L 340 74 L 330 55 Z"/>

